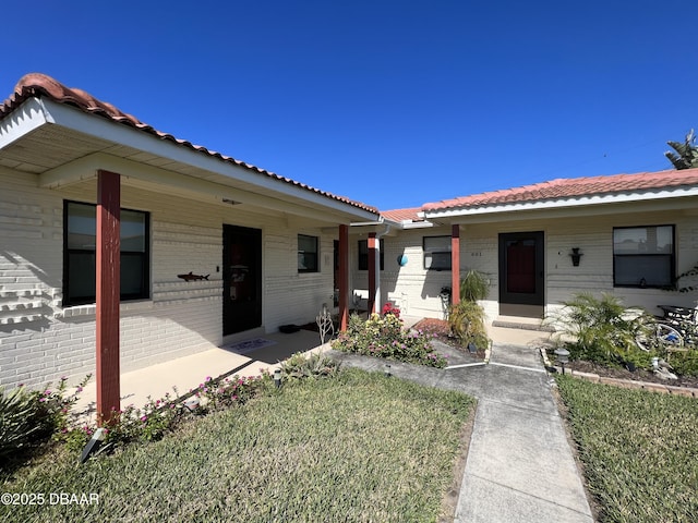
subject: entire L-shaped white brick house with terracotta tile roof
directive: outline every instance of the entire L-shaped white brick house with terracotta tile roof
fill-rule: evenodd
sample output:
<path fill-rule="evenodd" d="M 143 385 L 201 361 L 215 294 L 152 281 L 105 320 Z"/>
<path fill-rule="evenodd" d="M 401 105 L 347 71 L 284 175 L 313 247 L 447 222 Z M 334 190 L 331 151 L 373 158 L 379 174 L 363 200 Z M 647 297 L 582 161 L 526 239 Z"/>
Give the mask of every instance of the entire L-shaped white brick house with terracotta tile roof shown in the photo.
<path fill-rule="evenodd" d="M 380 212 L 29 74 L 0 106 L 0 386 L 96 370 L 101 412 L 120 372 L 312 321 L 333 300 L 341 326 L 359 301 L 443 317 L 467 269 L 491 277 L 491 321 L 576 291 L 695 306 L 662 288 L 698 263 L 698 169 Z"/>

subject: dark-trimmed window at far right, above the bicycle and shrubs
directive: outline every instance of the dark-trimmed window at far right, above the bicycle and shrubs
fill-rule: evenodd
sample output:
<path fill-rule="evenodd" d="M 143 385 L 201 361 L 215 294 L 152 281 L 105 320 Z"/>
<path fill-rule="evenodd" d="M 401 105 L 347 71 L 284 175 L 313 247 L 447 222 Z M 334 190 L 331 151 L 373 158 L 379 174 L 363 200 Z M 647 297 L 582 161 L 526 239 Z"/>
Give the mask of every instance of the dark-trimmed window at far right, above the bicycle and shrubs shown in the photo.
<path fill-rule="evenodd" d="M 613 229 L 614 287 L 671 287 L 675 267 L 674 226 Z"/>

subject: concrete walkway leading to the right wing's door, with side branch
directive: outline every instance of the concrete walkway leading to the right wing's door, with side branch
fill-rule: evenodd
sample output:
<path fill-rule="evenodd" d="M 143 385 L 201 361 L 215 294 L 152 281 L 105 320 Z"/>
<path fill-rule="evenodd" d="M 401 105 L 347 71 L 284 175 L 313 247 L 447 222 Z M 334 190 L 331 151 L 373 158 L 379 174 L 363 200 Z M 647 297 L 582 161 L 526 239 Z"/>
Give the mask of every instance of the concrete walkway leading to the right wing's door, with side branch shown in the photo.
<path fill-rule="evenodd" d="M 500 339 L 526 340 L 506 329 Z M 533 343 L 495 342 L 489 365 L 447 370 L 392 363 L 392 374 L 478 398 L 456 522 L 591 523 L 593 516 L 563 421 Z M 333 352 L 345 365 L 383 370 L 369 357 Z"/>

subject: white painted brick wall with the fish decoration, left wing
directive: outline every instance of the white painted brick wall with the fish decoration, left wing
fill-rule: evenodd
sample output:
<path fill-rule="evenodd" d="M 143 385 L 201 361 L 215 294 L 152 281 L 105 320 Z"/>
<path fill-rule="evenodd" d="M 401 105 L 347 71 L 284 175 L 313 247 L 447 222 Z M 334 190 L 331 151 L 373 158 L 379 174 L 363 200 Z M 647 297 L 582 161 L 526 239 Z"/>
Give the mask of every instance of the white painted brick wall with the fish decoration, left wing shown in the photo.
<path fill-rule="evenodd" d="M 95 368 L 95 307 L 61 305 L 63 200 L 94 203 L 96 184 L 37 188 L 2 169 L 0 192 L 0 386 L 38 386 Z M 263 327 L 314 320 L 333 291 L 336 233 L 280 214 L 204 204 L 122 184 L 122 207 L 151 212 L 152 299 L 121 304 L 121 369 L 192 354 L 222 342 L 222 224 L 262 230 Z M 321 239 L 318 273 L 298 273 L 297 235 Z M 186 282 L 179 273 L 210 275 Z"/>

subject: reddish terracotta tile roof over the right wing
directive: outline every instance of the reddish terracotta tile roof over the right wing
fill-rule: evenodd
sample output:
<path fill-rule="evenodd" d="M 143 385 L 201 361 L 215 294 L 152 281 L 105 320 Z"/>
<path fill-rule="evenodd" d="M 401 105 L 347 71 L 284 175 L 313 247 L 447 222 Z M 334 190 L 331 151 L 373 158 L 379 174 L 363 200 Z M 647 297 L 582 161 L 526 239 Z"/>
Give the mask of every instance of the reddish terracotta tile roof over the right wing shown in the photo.
<path fill-rule="evenodd" d="M 525 185 L 522 187 L 492 191 L 424 204 L 422 210 L 467 209 L 472 207 L 574 199 L 586 196 L 624 194 L 638 191 L 645 192 L 696 185 L 698 185 L 698 169 L 558 179 L 550 182 Z"/>

